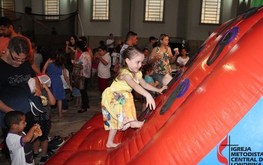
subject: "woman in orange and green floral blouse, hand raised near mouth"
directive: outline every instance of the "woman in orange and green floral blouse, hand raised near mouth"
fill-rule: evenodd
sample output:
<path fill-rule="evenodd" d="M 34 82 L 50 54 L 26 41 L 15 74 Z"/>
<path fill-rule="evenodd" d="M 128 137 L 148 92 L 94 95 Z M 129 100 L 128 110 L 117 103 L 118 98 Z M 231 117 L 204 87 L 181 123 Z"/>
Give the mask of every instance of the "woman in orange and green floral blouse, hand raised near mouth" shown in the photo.
<path fill-rule="evenodd" d="M 153 48 L 148 64 L 152 64 L 153 81 L 158 81 L 159 85 L 156 88 L 161 88 L 162 80 L 165 74 L 171 74 L 172 69 L 170 63 L 174 63 L 179 51 L 176 50 L 173 56 L 171 48 L 168 46 L 169 36 L 161 34 L 157 46 Z"/>

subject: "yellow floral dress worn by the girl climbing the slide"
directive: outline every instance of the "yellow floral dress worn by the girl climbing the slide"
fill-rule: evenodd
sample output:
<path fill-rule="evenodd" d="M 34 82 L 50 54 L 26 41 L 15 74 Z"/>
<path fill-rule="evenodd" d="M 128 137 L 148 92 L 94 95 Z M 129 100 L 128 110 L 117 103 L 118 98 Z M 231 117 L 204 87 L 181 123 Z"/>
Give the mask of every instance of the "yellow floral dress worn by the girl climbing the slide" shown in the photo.
<path fill-rule="evenodd" d="M 122 69 L 120 72 L 132 76 L 127 69 Z M 142 78 L 142 72 L 136 74 L 137 80 L 133 80 L 139 84 L 138 80 Z M 113 81 L 112 85 L 105 89 L 101 101 L 105 130 L 124 131 L 130 127 L 130 122 L 137 120 L 131 91 L 132 88 L 124 80 Z"/>

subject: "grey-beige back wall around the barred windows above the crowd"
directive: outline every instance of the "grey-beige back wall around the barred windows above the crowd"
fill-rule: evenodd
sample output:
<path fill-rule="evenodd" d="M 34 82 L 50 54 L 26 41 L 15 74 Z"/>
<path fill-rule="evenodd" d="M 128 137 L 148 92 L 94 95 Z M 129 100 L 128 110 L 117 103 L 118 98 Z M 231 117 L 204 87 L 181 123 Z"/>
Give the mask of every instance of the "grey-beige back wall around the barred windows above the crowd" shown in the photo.
<path fill-rule="evenodd" d="M 131 27 L 131 31 L 138 33 L 138 37 L 148 38 L 149 36 L 158 37 L 161 33 L 166 33 L 170 37 L 186 37 L 188 40 L 205 40 L 208 37 L 208 31 L 211 33 L 219 26 L 199 25 L 201 0 L 188 0 L 186 13 L 185 36 L 179 36 L 182 28 L 178 21 L 179 0 L 165 0 L 165 23 L 143 23 L 144 16 L 144 0 L 110 0 L 110 22 L 90 22 L 91 17 L 91 0 L 60 0 L 60 14 L 67 14 L 76 11 L 78 8 L 79 15 L 82 21 L 84 35 L 89 36 L 109 36 L 113 33 L 114 36 L 125 35 L 128 32 L 127 27 Z M 128 3 L 127 3 L 128 1 Z M 131 21 L 124 11 L 129 11 L 129 2 L 131 1 Z M 222 7 L 222 23 L 234 18 L 237 13 L 239 0 L 224 0 Z M 31 4 L 33 13 L 43 14 L 44 0 L 15 0 L 15 10 L 24 12 L 24 7 Z M 125 6 L 127 9 L 122 8 Z M 180 11 L 181 8 L 180 8 Z M 181 13 L 180 13 L 181 14 Z M 125 16 L 124 16 L 125 15 Z M 124 22 L 125 21 L 125 22 Z M 122 25 L 122 22 L 124 25 Z M 130 25 L 128 25 L 131 23 Z M 61 25 L 60 25 L 61 24 Z M 70 23 L 65 25 L 60 23 L 56 26 L 58 34 L 73 35 L 70 31 L 72 27 L 76 28 L 76 35 L 82 35 L 82 29 L 76 17 L 75 24 Z M 74 25 L 73 25 L 74 24 Z M 47 24 L 52 27 L 54 24 Z M 42 28 L 35 25 L 36 28 Z M 123 28 L 125 27 L 125 28 Z M 180 31 L 178 31 L 180 27 Z M 127 31 L 127 32 L 122 32 Z M 36 33 L 43 33 L 36 30 Z M 48 32 L 50 33 L 50 32 Z M 178 36 L 177 36 L 178 35 Z"/>

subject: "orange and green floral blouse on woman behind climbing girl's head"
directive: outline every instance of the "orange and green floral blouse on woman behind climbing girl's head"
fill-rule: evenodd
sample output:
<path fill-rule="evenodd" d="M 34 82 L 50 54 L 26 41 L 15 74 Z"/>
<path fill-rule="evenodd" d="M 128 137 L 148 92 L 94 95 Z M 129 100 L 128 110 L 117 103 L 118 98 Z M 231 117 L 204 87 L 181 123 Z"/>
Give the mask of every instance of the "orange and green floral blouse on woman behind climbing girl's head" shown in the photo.
<path fill-rule="evenodd" d="M 160 60 L 156 60 L 152 64 L 153 72 L 158 73 L 158 74 L 170 74 L 172 72 L 172 68 L 170 66 L 169 61 L 171 60 L 171 58 L 173 58 L 173 54 L 171 54 L 169 50 L 170 50 L 170 47 L 168 46 L 165 52 L 162 52 L 158 46 L 156 47 L 156 55 L 160 56 Z M 150 60 L 154 59 L 156 55 L 153 57 L 150 57 Z"/>

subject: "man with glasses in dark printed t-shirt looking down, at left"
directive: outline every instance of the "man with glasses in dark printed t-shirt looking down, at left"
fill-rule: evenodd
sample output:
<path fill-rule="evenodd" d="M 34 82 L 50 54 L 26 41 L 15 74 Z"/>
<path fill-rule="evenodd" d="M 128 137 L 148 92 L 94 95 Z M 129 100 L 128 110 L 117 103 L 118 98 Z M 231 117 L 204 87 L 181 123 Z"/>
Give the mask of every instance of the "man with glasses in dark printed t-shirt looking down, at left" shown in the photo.
<path fill-rule="evenodd" d="M 34 124 L 34 117 L 28 100 L 31 94 L 28 80 L 35 79 L 35 96 L 41 96 L 39 80 L 28 62 L 29 42 L 25 37 L 15 36 L 10 39 L 6 52 L 0 58 L 0 127 L 5 138 L 8 129 L 3 123 L 5 114 L 9 111 L 22 111 L 26 115 L 28 132 Z M 5 143 L 5 156 L 10 159 Z"/>

